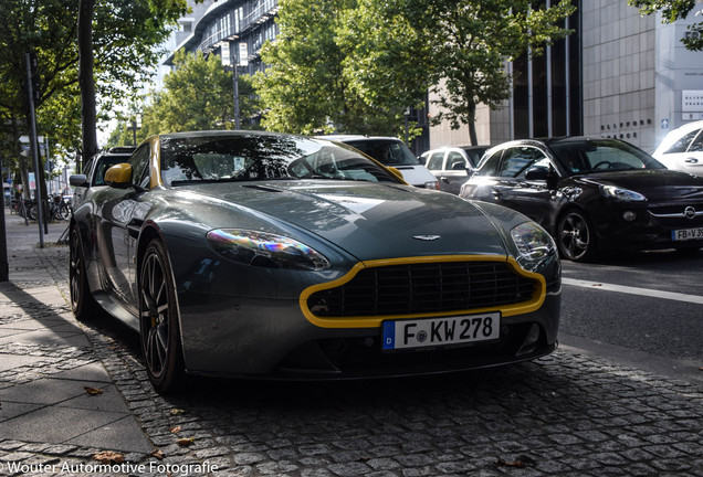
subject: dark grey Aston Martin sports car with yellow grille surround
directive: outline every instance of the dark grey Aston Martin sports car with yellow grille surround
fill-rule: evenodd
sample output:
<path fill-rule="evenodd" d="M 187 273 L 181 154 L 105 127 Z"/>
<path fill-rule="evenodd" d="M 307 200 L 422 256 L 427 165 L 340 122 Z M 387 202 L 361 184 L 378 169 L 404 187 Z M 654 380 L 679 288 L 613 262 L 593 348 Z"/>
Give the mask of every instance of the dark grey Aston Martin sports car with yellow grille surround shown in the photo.
<path fill-rule="evenodd" d="M 71 223 L 78 319 L 139 332 L 160 392 L 186 373 L 427 374 L 557 346 L 560 264 L 536 223 L 413 188 L 358 150 L 297 136 L 155 136 Z"/>

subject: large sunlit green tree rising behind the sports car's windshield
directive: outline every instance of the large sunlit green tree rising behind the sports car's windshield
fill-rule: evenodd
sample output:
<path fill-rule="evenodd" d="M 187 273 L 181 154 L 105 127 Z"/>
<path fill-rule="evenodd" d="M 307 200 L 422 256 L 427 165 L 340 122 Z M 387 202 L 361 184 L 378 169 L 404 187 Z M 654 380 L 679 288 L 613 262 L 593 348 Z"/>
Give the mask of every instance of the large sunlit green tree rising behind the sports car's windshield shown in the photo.
<path fill-rule="evenodd" d="M 267 129 L 324 134 L 332 131 L 400 135 L 403 113 L 422 98 L 427 87 L 403 82 L 400 68 L 409 41 L 389 21 L 377 31 L 379 12 L 373 0 L 281 0 L 279 36 L 262 49 L 267 65 L 255 76 Z M 402 22 L 396 18 L 395 21 Z M 411 29 L 405 30 L 411 32 Z M 410 36 L 411 39 L 412 36 Z M 395 50 L 388 50 L 392 45 Z M 374 57 L 375 52 L 378 55 Z M 422 77 L 422 75 L 420 75 Z"/>

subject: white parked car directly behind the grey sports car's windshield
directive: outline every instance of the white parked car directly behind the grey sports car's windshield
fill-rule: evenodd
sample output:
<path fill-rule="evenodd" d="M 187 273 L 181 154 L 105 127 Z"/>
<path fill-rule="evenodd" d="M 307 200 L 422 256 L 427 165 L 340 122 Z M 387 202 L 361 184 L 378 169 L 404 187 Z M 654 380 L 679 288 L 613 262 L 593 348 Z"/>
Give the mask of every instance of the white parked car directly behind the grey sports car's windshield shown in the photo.
<path fill-rule="evenodd" d="M 398 169 L 411 186 L 439 190 L 439 182 L 415 157 L 403 141 L 386 136 L 333 135 L 318 136 L 321 139 L 349 145 L 387 167 Z"/>

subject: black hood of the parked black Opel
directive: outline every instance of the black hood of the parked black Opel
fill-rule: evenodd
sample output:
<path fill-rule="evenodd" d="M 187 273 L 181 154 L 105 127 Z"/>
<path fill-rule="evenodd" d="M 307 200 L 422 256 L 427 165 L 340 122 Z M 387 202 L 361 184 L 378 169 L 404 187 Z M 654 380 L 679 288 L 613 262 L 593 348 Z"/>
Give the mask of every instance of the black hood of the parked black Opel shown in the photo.
<path fill-rule="evenodd" d="M 703 178 L 672 170 L 633 170 L 581 176 L 587 183 L 617 186 L 649 200 L 703 199 Z"/>

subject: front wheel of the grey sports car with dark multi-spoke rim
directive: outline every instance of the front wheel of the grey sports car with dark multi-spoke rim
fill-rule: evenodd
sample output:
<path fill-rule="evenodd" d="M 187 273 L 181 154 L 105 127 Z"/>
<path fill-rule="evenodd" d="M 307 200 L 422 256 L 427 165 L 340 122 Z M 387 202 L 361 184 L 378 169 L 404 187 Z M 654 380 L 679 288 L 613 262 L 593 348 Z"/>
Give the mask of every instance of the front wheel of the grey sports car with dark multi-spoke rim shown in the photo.
<path fill-rule="evenodd" d="M 147 374 L 160 393 L 177 391 L 185 367 L 178 325 L 176 289 L 160 241 L 146 247 L 139 267 L 139 331 Z"/>

